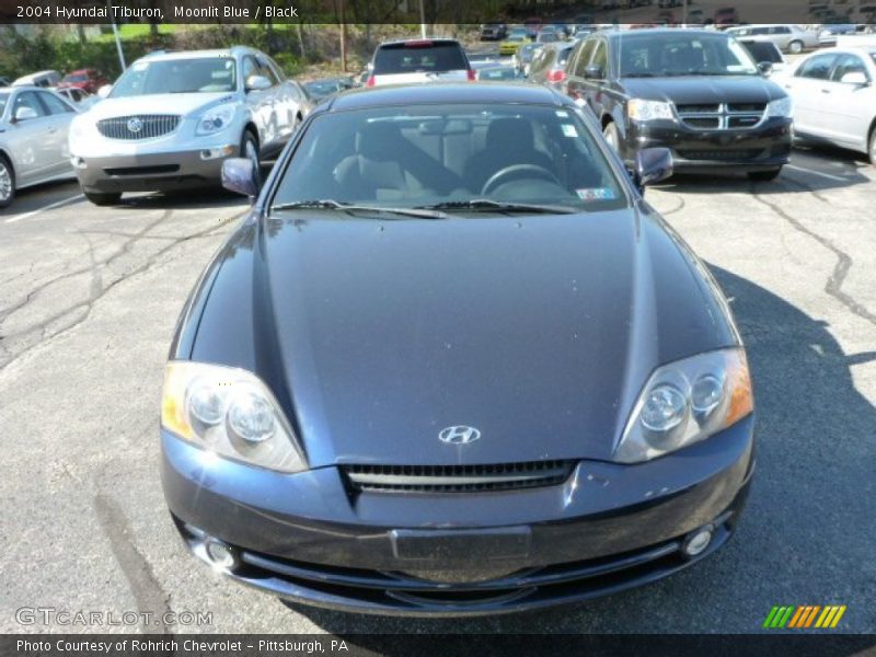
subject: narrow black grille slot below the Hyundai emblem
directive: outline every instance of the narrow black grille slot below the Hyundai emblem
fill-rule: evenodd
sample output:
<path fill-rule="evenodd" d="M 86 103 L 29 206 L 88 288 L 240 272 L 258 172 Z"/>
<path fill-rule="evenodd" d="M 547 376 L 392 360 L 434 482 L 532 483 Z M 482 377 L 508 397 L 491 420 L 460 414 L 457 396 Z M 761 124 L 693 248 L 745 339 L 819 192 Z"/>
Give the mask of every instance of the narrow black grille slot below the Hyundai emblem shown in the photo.
<path fill-rule="evenodd" d="M 565 482 L 575 461 L 529 461 L 483 465 L 344 465 L 357 491 L 390 493 L 477 493 L 554 486 Z"/>

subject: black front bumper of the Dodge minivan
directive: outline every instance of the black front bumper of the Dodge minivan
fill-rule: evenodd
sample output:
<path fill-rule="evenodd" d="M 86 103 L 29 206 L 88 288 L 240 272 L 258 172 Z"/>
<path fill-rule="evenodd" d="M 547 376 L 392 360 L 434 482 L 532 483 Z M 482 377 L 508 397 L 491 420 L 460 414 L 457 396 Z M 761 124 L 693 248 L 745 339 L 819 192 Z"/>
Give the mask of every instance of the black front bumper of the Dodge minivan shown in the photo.
<path fill-rule="evenodd" d="M 754 128 L 696 130 L 678 122 L 631 122 L 621 155 L 633 165 L 638 150 L 661 147 L 672 151 L 679 173 L 772 171 L 791 158 L 791 118 L 768 118 Z"/>

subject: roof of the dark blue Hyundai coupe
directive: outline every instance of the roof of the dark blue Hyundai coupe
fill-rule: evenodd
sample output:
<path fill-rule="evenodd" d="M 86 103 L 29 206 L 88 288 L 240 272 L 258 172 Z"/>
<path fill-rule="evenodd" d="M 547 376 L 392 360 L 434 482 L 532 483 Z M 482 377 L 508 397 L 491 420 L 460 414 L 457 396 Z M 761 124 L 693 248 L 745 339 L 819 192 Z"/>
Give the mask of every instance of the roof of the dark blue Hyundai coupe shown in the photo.
<path fill-rule="evenodd" d="M 417 85 L 387 85 L 355 89 L 328 104 L 327 112 L 389 107 L 393 105 L 436 105 L 446 103 L 500 103 L 530 105 L 572 105 L 570 99 L 548 87 L 528 83 L 435 82 Z"/>

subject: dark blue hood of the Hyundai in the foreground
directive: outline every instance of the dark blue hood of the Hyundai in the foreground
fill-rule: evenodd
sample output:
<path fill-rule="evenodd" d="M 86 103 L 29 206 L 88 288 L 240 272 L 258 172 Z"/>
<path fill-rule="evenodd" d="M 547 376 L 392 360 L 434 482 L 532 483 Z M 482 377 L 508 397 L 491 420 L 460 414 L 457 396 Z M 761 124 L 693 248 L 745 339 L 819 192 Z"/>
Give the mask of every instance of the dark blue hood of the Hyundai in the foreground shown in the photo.
<path fill-rule="evenodd" d="M 280 212 L 218 266 L 191 357 L 256 371 L 311 466 L 609 459 L 655 367 L 738 344 L 704 267 L 635 210 Z M 441 442 L 457 425 L 480 440 Z"/>

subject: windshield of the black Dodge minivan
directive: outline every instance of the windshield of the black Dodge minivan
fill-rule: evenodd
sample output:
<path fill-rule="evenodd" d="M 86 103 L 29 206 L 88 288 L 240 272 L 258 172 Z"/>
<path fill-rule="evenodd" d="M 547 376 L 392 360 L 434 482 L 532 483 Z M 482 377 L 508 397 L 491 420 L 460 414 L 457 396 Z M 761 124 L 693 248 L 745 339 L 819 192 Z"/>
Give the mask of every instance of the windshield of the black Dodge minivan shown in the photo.
<path fill-rule="evenodd" d="M 748 51 L 724 34 L 637 34 L 619 37 L 621 78 L 757 76 Z"/>

